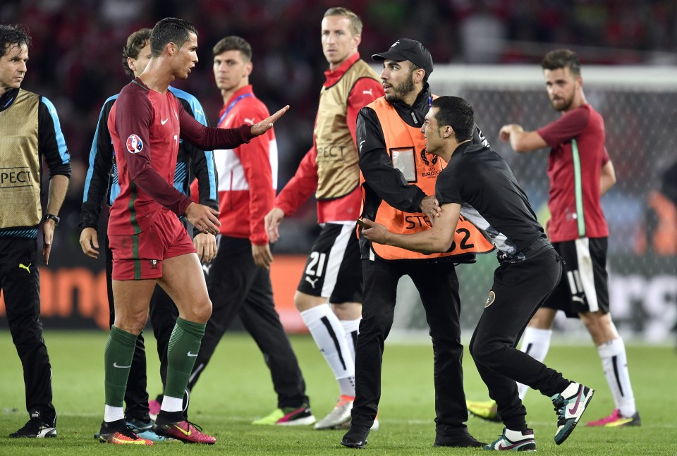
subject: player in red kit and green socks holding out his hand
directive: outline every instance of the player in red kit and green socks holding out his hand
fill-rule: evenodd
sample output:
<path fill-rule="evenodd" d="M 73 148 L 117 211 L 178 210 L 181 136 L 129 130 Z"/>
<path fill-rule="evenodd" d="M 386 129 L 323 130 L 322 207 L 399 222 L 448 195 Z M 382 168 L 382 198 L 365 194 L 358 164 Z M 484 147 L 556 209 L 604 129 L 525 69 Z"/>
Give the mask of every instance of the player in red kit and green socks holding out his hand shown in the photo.
<path fill-rule="evenodd" d="M 144 72 L 121 90 L 108 127 L 116 155 L 120 195 L 111 207 L 115 322 L 104 354 L 106 407 L 100 435 L 111 443 L 152 445 L 142 438 L 118 440 L 124 429 L 123 398 L 136 338 L 145 326 L 156 284 L 171 297 L 179 316 L 169 340 L 164 400 L 154 424 L 158 435 L 213 444 L 183 416 L 183 394 L 205 324 L 212 313 L 200 260 L 176 215 L 197 229 L 218 233 L 212 208 L 192 202 L 173 182 L 179 137 L 202 149 L 228 149 L 272 128 L 288 106 L 255 125 L 208 128 L 195 121 L 168 90 L 197 63 L 197 30 L 185 20 L 160 20 L 151 33 L 151 59 Z"/>

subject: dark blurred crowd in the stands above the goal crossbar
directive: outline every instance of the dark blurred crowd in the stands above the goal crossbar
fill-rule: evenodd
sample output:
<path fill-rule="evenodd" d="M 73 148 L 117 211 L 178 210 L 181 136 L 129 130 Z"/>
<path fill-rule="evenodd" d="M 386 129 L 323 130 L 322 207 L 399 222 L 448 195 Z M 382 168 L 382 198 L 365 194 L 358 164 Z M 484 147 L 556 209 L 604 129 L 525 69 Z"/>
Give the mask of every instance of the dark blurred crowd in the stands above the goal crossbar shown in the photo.
<path fill-rule="evenodd" d="M 281 188 L 312 140 L 327 69 L 319 25 L 330 6 L 362 18 L 362 56 L 411 37 L 437 64 L 538 63 L 555 46 L 571 47 L 585 64 L 677 62 L 674 0 L 3 0 L 0 22 L 28 26 L 33 39 L 23 87 L 49 97 L 59 111 L 73 157 L 67 208 L 79 210 L 99 109 L 128 82 L 121 67 L 126 37 L 169 16 L 200 32 L 200 63 L 176 87 L 195 94 L 212 122 L 221 108 L 212 45 L 226 35 L 252 44 L 257 96 L 271 111 L 292 106 L 276 125 Z M 305 216 L 315 221 L 312 204 Z"/>

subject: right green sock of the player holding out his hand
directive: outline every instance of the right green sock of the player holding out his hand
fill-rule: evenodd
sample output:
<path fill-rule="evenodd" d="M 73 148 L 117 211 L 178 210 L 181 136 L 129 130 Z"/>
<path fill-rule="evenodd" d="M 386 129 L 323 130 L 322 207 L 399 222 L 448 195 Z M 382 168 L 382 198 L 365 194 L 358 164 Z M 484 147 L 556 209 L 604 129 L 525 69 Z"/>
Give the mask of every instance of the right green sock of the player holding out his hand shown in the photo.
<path fill-rule="evenodd" d="M 164 395 L 171 398 L 183 398 L 188 378 L 195 366 L 195 357 L 200 351 L 202 336 L 205 335 L 205 323 L 194 323 L 182 318 L 176 319 L 167 346 L 167 382 Z"/>

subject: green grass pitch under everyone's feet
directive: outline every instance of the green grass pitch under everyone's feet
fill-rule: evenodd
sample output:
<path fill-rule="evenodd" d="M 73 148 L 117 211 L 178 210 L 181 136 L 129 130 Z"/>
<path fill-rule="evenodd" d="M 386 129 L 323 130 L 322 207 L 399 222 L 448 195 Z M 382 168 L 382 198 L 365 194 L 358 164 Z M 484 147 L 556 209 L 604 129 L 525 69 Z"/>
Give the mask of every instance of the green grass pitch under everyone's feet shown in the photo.
<path fill-rule="evenodd" d="M 149 332 L 150 333 L 150 332 Z M 0 455 L 471 455 L 478 450 L 433 448 L 434 391 L 432 349 L 427 340 L 386 342 L 383 392 L 379 407 L 381 430 L 369 437 L 366 450 L 348 450 L 338 442 L 343 431 L 314 431 L 312 426 L 252 426 L 276 406 L 272 383 L 260 352 L 248 335 L 229 333 L 193 391 L 191 421 L 216 436 L 213 446 L 159 443 L 152 448 L 102 445 L 94 440 L 103 417 L 104 332 L 47 331 L 51 357 L 54 405 L 59 413 L 56 439 L 10 439 L 7 435 L 28 419 L 21 366 L 7 331 L 0 333 Z M 312 411 L 317 419 L 329 413 L 338 398 L 338 387 L 329 367 L 310 336 L 292 338 L 307 383 Z M 160 381 L 154 339 L 146 340 L 148 390 L 159 393 Z M 525 398 L 528 424 L 535 430 L 538 452 L 556 455 L 677 455 L 677 426 L 673 421 L 677 394 L 677 353 L 673 347 L 628 344 L 630 376 L 642 426 L 597 429 L 579 426 L 563 445 L 554 436 L 555 414 L 548 398 L 530 391 Z M 547 363 L 566 377 L 597 391 L 583 421 L 606 416 L 613 400 L 597 356 L 590 345 L 554 345 Z M 465 355 L 465 392 L 484 400 L 470 355 Z M 484 442 L 496 439 L 500 424 L 468 419 L 470 432 Z"/>

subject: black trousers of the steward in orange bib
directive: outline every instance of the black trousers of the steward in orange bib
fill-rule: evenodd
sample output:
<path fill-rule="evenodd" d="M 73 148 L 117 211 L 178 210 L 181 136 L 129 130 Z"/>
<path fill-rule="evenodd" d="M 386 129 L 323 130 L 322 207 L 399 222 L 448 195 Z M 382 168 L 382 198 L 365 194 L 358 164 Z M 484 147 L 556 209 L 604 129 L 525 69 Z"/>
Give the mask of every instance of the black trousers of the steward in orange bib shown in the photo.
<path fill-rule="evenodd" d="M 365 296 L 355 347 L 355 402 L 352 426 L 369 429 L 381 398 L 384 342 L 393 325 L 397 282 L 410 276 L 425 308 L 434 353 L 437 434 L 465 433 L 468 410 L 463 392 L 461 303 L 453 263 L 362 260 Z"/>

